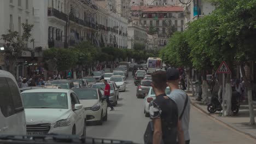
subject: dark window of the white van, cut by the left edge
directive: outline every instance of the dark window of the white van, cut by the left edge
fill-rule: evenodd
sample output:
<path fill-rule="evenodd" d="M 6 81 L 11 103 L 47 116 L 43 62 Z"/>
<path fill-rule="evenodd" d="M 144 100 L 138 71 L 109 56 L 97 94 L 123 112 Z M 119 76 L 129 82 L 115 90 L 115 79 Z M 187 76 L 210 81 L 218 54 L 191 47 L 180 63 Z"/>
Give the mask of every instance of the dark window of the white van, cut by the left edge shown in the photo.
<path fill-rule="evenodd" d="M 4 117 L 14 115 L 13 98 L 11 97 L 7 80 L 4 77 L 0 77 L 0 95 L 0 107 Z"/>

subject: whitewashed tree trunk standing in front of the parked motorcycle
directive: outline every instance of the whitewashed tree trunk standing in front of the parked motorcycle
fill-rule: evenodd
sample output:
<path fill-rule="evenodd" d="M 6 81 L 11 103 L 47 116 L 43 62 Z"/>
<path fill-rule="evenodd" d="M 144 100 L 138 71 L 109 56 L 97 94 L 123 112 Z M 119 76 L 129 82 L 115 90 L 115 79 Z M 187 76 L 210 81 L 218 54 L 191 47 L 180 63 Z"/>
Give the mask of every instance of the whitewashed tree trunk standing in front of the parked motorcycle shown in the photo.
<path fill-rule="evenodd" d="M 223 107 L 225 106 L 225 110 L 223 109 L 223 116 L 232 115 L 231 97 L 232 97 L 232 87 L 230 83 L 230 74 L 228 74 L 228 76 L 226 76 L 226 84 L 225 84 L 225 97 L 224 97 L 225 99 L 223 99 L 224 101 Z"/>

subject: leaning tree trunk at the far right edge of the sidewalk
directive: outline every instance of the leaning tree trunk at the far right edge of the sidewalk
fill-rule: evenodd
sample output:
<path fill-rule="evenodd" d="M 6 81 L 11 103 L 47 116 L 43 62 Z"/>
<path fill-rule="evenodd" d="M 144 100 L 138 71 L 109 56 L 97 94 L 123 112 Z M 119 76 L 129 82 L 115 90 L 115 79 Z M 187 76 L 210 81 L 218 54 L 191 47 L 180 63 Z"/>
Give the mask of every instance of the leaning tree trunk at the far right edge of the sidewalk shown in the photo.
<path fill-rule="evenodd" d="M 247 67 L 249 65 L 247 64 Z M 250 115 L 250 121 L 249 124 L 254 125 L 255 119 L 254 119 L 254 111 L 253 111 L 253 102 L 252 102 L 252 85 L 251 85 L 251 79 L 250 79 L 250 72 L 249 75 L 246 75 L 245 72 L 245 64 L 243 62 L 240 63 L 241 73 L 243 75 L 243 80 L 245 81 L 245 86 L 247 89 L 247 97 L 248 97 L 248 105 L 249 105 L 249 115 Z"/>

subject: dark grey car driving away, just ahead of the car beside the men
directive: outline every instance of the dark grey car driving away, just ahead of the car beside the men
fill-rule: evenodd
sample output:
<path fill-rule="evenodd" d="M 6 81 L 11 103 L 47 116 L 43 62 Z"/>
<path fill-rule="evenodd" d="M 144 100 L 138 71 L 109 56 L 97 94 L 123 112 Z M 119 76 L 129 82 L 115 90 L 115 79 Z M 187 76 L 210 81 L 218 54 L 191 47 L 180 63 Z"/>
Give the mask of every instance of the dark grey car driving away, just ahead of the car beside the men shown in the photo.
<path fill-rule="evenodd" d="M 151 83 L 152 83 L 152 80 L 142 80 L 137 87 L 136 97 L 137 98 L 146 97 L 148 90 L 151 87 Z"/>

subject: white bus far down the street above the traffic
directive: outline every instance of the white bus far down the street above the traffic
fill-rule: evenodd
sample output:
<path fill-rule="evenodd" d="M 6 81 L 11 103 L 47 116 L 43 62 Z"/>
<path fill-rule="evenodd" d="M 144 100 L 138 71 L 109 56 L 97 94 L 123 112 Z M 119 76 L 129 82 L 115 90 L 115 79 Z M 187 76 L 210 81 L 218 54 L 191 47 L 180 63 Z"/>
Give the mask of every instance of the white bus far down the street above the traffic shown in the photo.
<path fill-rule="evenodd" d="M 162 69 L 162 59 L 159 57 L 149 57 L 147 61 L 147 73 L 152 74 L 156 69 Z"/>

